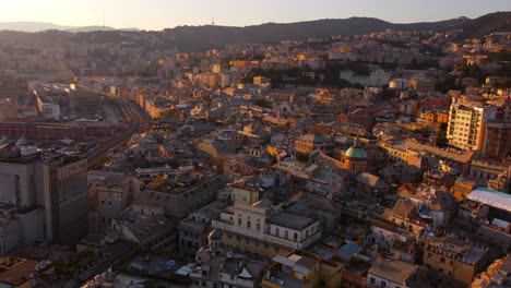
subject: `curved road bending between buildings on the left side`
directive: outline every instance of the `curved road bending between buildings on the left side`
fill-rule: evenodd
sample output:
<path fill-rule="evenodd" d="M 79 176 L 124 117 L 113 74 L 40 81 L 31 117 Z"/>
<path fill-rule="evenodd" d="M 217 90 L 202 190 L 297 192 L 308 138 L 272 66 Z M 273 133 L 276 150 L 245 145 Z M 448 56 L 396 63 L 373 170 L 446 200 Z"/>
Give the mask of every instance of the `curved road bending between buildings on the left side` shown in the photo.
<path fill-rule="evenodd" d="M 104 96 L 110 97 L 107 95 Z M 88 168 L 97 167 L 106 159 L 108 152 L 122 147 L 130 141 L 133 134 L 142 133 L 150 128 L 151 118 L 136 104 L 131 103 L 124 98 L 115 98 L 117 100 L 119 108 L 124 115 L 124 120 L 129 124 L 129 129 L 112 135 L 110 139 L 106 140 L 104 144 L 100 144 L 95 149 L 88 152 Z"/>

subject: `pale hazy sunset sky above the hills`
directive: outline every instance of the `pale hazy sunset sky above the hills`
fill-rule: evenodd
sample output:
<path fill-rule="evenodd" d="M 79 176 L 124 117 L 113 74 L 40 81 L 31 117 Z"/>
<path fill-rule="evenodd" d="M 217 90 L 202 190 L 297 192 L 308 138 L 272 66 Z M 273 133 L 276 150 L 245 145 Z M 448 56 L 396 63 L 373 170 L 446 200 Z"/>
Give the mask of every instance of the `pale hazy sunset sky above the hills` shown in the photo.
<path fill-rule="evenodd" d="M 162 29 L 373 16 L 390 22 L 476 17 L 511 11 L 511 0 L 0 0 L 0 22 L 41 21 Z"/>

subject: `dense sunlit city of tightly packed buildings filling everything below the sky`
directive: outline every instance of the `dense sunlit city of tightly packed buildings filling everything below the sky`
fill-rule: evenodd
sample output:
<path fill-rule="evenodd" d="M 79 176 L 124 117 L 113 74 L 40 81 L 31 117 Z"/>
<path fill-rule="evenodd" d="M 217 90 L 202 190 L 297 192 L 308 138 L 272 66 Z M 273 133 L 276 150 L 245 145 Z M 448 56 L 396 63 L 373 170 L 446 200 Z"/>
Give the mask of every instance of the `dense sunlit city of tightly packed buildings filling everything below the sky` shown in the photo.
<path fill-rule="evenodd" d="M 0 31 L 0 287 L 511 287 L 511 12 L 419 24 Z"/>

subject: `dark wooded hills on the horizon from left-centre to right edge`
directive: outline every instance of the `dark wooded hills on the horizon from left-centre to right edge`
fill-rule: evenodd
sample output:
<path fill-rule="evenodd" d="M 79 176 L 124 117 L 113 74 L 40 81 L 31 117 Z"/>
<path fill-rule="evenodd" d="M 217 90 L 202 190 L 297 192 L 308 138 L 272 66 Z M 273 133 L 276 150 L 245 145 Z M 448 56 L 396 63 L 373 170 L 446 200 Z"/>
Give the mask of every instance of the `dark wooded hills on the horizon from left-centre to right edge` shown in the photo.
<path fill-rule="evenodd" d="M 350 36 L 383 32 L 385 28 L 396 31 L 433 31 L 442 32 L 452 28 L 466 29 L 466 37 L 476 34 L 488 34 L 508 28 L 511 12 L 497 12 L 475 20 L 457 17 L 437 22 L 390 23 L 375 17 L 328 19 L 296 23 L 266 23 L 246 27 L 228 26 L 178 26 L 163 31 L 163 37 L 171 39 L 181 50 L 205 50 L 219 48 L 229 43 L 277 43 L 283 39 L 306 40 L 308 38 L 326 38 L 333 35 Z"/>

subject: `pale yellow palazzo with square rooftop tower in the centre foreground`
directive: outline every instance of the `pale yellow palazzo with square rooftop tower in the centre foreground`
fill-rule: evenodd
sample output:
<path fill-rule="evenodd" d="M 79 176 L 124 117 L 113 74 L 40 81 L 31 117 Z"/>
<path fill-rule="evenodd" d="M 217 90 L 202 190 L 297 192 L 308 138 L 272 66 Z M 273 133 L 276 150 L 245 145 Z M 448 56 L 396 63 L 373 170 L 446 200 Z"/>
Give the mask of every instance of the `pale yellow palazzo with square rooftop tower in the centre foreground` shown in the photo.
<path fill-rule="evenodd" d="M 225 208 L 211 225 L 222 235 L 221 245 L 273 257 L 312 245 L 321 238 L 319 219 L 283 212 L 268 199 L 255 202 L 257 189 L 234 188 L 231 193 L 234 206 Z"/>

